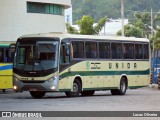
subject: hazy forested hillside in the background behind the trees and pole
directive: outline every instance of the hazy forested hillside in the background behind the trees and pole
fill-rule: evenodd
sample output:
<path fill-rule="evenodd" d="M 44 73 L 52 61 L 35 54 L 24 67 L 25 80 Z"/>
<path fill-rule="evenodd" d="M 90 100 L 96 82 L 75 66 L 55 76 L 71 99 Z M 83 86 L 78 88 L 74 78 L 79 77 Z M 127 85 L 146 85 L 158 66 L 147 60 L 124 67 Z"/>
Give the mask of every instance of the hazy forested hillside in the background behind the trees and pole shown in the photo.
<path fill-rule="evenodd" d="M 120 18 L 121 0 L 72 0 L 73 22 L 89 15 L 95 20 L 101 17 Z M 125 18 L 133 17 L 135 11 L 156 13 L 160 11 L 160 0 L 124 0 Z"/>

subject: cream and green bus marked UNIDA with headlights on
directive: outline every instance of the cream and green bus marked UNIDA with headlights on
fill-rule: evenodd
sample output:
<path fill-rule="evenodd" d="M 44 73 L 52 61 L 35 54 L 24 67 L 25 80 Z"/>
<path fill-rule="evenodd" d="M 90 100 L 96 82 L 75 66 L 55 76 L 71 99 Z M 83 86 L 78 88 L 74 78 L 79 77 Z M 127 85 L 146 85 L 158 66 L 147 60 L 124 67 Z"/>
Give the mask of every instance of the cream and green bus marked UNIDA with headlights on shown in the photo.
<path fill-rule="evenodd" d="M 127 88 L 150 83 L 149 46 L 146 38 L 24 35 L 16 43 L 14 91 L 29 91 L 33 98 L 46 92 L 91 96 L 100 90 L 125 95 Z"/>

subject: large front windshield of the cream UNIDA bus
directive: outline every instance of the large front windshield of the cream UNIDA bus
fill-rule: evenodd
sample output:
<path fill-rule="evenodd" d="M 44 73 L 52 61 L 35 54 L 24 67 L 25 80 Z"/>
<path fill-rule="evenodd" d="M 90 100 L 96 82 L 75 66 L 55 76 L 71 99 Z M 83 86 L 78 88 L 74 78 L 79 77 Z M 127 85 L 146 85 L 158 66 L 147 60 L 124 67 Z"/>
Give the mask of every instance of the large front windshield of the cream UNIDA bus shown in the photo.
<path fill-rule="evenodd" d="M 57 68 L 58 42 L 37 41 L 17 44 L 14 67 L 23 71 L 43 71 Z"/>

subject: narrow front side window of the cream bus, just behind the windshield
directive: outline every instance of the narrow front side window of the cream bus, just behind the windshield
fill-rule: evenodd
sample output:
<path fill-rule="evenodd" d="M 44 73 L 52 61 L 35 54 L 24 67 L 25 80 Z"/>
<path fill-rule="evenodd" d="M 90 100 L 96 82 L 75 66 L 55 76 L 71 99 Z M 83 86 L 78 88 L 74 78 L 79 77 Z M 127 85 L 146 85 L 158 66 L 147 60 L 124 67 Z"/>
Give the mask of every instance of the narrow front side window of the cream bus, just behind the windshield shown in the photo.
<path fill-rule="evenodd" d="M 70 63 L 70 46 L 69 44 L 61 45 L 61 63 Z"/>

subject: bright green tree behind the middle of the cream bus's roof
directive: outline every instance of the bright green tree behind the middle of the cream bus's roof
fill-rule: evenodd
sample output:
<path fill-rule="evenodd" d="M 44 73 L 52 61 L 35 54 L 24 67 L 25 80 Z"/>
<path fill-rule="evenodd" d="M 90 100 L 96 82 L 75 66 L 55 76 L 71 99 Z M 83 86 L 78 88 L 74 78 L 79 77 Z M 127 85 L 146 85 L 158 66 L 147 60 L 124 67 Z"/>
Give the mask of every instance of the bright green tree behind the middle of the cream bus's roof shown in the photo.
<path fill-rule="evenodd" d="M 99 34 L 99 32 L 104 27 L 107 17 L 103 17 L 99 20 L 99 22 L 94 26 L 94 19 L 90 16 L 84 15 L 81 20 L 77 21 L 77 25 L 79 26 L 79 32 L 74 27 L 71 27 L 69 24 L 66 24 L 66 28 L 68 33 L 71 34 L 83 34 L 83 35 L 95 35 Z"/>

